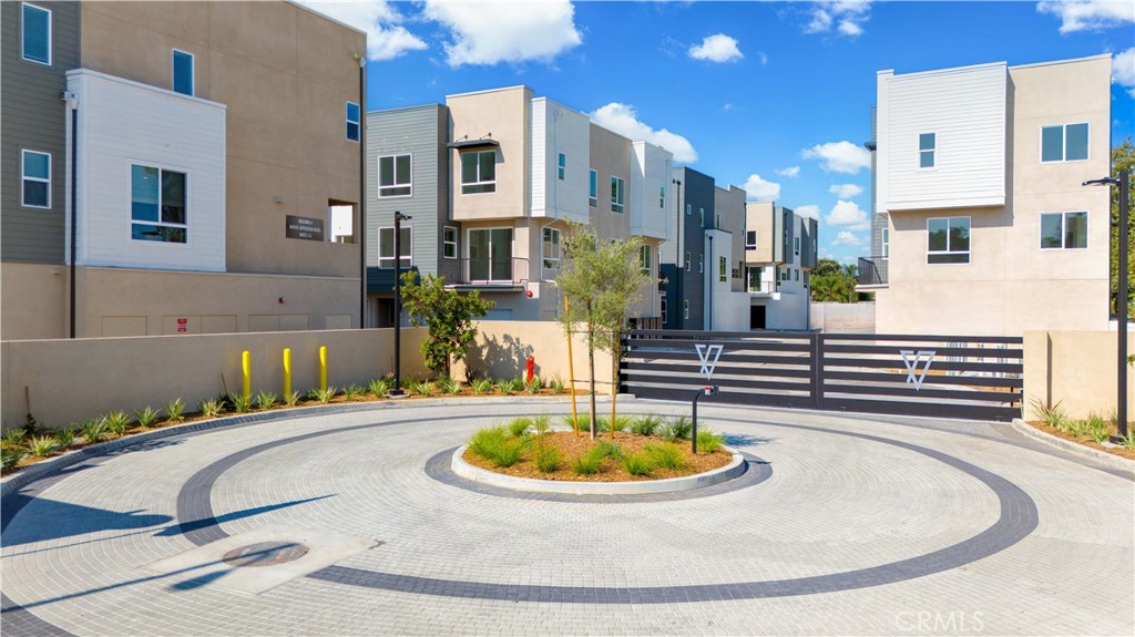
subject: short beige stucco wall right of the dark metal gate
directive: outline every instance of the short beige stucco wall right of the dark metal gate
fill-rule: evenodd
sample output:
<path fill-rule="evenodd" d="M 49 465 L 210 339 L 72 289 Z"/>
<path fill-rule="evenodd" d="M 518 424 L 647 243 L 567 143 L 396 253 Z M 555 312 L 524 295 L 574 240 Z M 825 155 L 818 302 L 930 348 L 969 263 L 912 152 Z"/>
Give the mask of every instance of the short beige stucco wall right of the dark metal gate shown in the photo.
<path fill-rule="evenodd" d="M 1033 400 L 1057 402 L 1074 418 L 1108 417 L 1116 409 L 1116 332 L 1025 332 L 1025 418 L 1035 419 Z M 1135 353 L 1135 334 L 1127 351 Z M 1128 367 L 1127 404 L 1135 405 Z"/>

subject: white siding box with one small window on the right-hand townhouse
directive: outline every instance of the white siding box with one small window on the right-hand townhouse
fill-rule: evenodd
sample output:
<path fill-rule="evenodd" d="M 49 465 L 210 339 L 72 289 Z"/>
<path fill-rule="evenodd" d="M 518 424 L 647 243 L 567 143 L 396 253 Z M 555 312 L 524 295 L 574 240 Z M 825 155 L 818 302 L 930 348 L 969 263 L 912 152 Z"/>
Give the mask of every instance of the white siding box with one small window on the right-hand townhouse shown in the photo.
<path fill-rule="evenodd" d="M 876 182 L 882 212 L 1004 205 L 1004 62 L 878 74 Z M 933 167 L 919 135 L 934 134 Z"/>

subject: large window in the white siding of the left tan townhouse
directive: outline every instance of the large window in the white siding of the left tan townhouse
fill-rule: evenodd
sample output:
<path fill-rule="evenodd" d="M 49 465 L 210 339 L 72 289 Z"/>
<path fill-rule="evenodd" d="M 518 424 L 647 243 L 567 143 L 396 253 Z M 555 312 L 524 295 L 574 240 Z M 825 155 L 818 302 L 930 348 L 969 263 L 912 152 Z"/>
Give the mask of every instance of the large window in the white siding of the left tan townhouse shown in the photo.
<path fill-rule="evenodd" d="M 131 238 L 186 243 L 185 173 L 152 165 L 131 165 Z"/>

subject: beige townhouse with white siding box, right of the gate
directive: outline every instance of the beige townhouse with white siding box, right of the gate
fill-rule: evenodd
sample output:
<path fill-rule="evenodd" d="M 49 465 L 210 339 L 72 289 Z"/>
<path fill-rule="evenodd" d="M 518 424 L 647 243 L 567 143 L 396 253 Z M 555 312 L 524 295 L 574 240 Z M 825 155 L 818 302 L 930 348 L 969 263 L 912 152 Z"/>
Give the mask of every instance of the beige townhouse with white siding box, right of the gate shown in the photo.
<path fill-rule="evenodd" d="M 1107 329 L 1110 65 L 878 73 L 880 332 Z"/>

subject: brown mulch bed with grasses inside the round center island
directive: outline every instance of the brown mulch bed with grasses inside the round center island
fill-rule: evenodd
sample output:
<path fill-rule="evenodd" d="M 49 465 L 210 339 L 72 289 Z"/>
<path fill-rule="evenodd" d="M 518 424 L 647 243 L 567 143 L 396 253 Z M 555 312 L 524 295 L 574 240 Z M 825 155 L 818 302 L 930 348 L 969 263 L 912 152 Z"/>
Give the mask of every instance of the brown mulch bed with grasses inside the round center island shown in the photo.
<path fill-rule="evenodd" d="M 574 432 L 570 431 L 545 434 L 544 440 L 541 441 L 543 444 L 552 444 L 560 448 L 562 464 L 560 469 L 553 473 L 540 472 L 532 461 L 532 448 L 536 444 L 535 436 L 533 442 L 529 445 L 529 449 L 524 451 L 523 459 L 511 467 L 497 467 L 491 461 L 486 460 L 469 450 L 465 451 L 462 458 L 474 467 L 480 467 L 498 474 L 562 482 L 640 482 L 681 477 L 693 474 L 704 474 L 706 472 L 724 467 L 733 459 L 733 455 L 723 449 L 718 449 L 713 453 L 698 451 L 698 455 L 693 456 L 690 451 L 690 441 L 680 440 L 674 442 L 674 444 L 682 450 L 682 455 L 686 460 L 684 469 L 674 470 L 658 467 L 655 468 L 649 476 L 632 476 L 623 469 L 619 461 L 607 458 L 603 461 L 603 468 L 597 474 L 580 475 L 572 470 L 575 459 L 590 451 L 591 448 L 602 441 L 611 442 L 611 433 L 599 433 L 595 440 L 591 440 L 586 431 L 581 431 L 579 438 L 575 436 Z M 641 451 L 647 444 L 662 445 L 667 443 L 667 441 L 663 438 L 637 435 L 625 432 L 615 432 L 614 442 L 627 453 Z"/>

